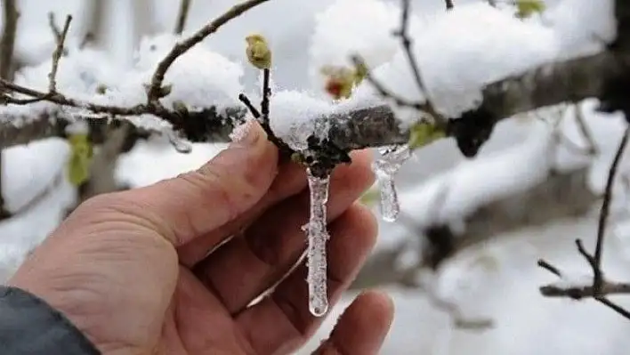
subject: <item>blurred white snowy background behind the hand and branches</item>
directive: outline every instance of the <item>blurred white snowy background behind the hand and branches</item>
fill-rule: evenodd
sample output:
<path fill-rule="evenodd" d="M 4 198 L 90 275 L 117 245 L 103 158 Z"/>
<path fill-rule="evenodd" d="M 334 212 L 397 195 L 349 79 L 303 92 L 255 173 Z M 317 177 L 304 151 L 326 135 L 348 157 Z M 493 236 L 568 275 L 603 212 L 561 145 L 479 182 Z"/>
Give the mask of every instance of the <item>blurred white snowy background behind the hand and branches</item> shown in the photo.
<path fill-rule="evenodd" d="M 104 51 L 77 56 L 71 53 L 67 61 L 62 60 L 60 88 L 70 96 L 85 95 L 85 85 L 94 85 L 94 80 L 117 85 L 116 81 L 125 77 L 125 83 L 118 83 L 117 95 L 100 100 L 133 103 L 141 100 L 138 83 L 150 74 L 160 51 L 168 49 L 174 39 L 171 36 L 150 39 L 136 52 L 140 36 L 134 28 L 139 27 L 132 24 L 143 20 L 147 22 L 144 28 L 170 32 L 179 0 L 139 0 L 136 6 L 147 6 L 141 7 L 141 16 L 133 15 L 131 1 L 109 0 L 107 3 L 109 6 L 103 16 L 107 23 L 105 28 L 110 30 L 101 44 Z M 396 0 L 271 0 L 230 22 L 200 44 L 196 52 L 182 58 L 171 77 L 175 83 L 174 96 L 187 98 L 190 105 L 201 105 L 208 99 L 229 104 L 239 90 L 254 91 L 258 82 L 255 71 L 243 64 L 243 38 L 251 32 L 260 32 L 268 37 L 274 51 L 276 91 L 309 92 L 308 100 L 306 93 L 287 93 L 287 96 L 293 95 L 292 99 L 283 101 L 284 106 L 277 103 L 277 110 L 272 112 L 282 112 L 282 109 L 286 109 L 285 113 L 295 112 L 291 110 L 295 109 L 295 97 L 302 97 L 304 105 L 311 105 L 314 110 L 329 109 L 325 107 L 318 69 L 323 65 L 343 65 L 352 52 L 361 53 L 370 67 L 377 68 L 375 74 L 397 93 L 422 97 L 409 81 L 399 44 L 391 36 L 391 30 L 398 26 L 398 3 Z M 193 1 L 187 32 L 199 28 L 233 4 L 233 0 Z M 515 19 L 513 9 L 507 6 L 497 10 L 473 0 L 456 1 L 455 11 L 448 14 L 441 0 L 415 0 L 412 4 L 411 34 L 416 41 L 424 79 L 438 109 L 448 113 L 473 106 L 485 83 L 546 61 L 596 52 L 602 42 L 594 38 L 614 36 L 610 0 L 550 0 L 542 19 L 535 16 L 528 20 Z M 20 1 L 18 55 L 33 65 L 44 64 L 27 69 L 18 81 L 45 88 L 49 69 L 46 61 L 53 48 L 46 13 L 54 11 L 60 20 L 72 13 L 75 22 L 70 32 L 76 31 L 74 41 L 77 43 L 85 23 L 81 20 L 85 17 L 84 5 L 82 0 Z M 146 50 L 149 44 L 157 44 L 157 57 L 155 52 Z M 108 64 L 93 65 L 103 62 Z M 220 70 L 207 69 L 217 63 L 221 63 Z M 90 70 L 95 73 L 94 80 L 79 76 Z M 134 76 L 125 76 L 126 73 L 134 73 Z M 195 80 L 180 89 L 176 83 L 182 77 L 195 77 Z M 196 88 L 205 91 L 194 95 L 189 92 Z M 369 95 L 368 87 L 360 90 L 359 98 Z M 44 106 L 36 109 L 45 109 Z M 479 157 L 473 160 L 461 157 L 450 140 L 417 151 L 398 176 L 403 212 L 413 216 L 419 226 L 435 219 L 457 222 L 487 201 L 516 190 L 527 190 L 541 182 L 552 167 L 562 171 L 586 167 L 589 189 L 602 193 L 624 123 L 618 116 L 595 114 L 594 106 L 595 102 L 587 101 L 584 107 L 586 123 L 599 149 L 595 157 L 556 149 L 552 125 L 533 117 L 503 121 L 481 149 Z M 303 112 L 311 113 L 306 109 Z M 586 144 L 573 120 L 565 118 L 560 127 L 561 132 L 578 145 Z M 181 155 L 164 141 L 142 141 L 131 153 L 120 158 L 117 177 L 133 186 L 158 182 L 198 167 L 220 149 L 222 146 L 198 144 L 192 153 Z M 64 173 L 69 147 L 65 141 L 51 139 L 5 149 L 2 154 L 4 197 L 10 209 L 19 209 Z M 161 164 L 155 164 L 157 160 Z M 621 171 L 625 173 L 630 165 L 622 164 Z M 432 198 L 442 184 L 448 184 L 448 198 L 436 213 L 432 210 Z M 630 228 L 624 228 L 626 197 L 622 186 L 616 191 L 611 219 L 614 228 L 610 229 L 605 249 L 604 270 L 611 278 L 628 280 Z M 72 205 L 75 194 L 64 180 L 28 213 L 0 224 L 0 279 L 8 278 L 24 254 L 56 226 L 64 209 Z M 627 319 L 592 301 L 545 299 L 538 292 L 538 286 L 554 281 L 552 275 L 537 268 L 538 258 L 554 262 L 562 269 L 588 271 L 575 251 L 573 240 L 583 238 L 586 246 L 594 245 L 597 210 L 598 206 L 594 206 L 585 217 L 497 236 L 491 243 L 448 262 L 440 273 L 440 293 L 456 299 L 467 316 L 493 319 L 496 323 L 493 329 L 455 329 L 448 315 L 428 303 L 422 292 L 389 286 L 387 290 L 394 297 L 396 318 L 382 353 L 626 353 L 624 349 L 630 346 Z M 378 247 L 393 246 L 405 238 L 417 237 L 400 222 L 383 222 Z M 481 257 L 491 262 L 472 267 Z M 332 311 L 327 326 L 316 335 L 309 349 L 327 335 L 335 316 L 343 311 L 352 296 L 348 294 Z M 630 306 L 630 298 L 620 296 L 614 300 Z"/>

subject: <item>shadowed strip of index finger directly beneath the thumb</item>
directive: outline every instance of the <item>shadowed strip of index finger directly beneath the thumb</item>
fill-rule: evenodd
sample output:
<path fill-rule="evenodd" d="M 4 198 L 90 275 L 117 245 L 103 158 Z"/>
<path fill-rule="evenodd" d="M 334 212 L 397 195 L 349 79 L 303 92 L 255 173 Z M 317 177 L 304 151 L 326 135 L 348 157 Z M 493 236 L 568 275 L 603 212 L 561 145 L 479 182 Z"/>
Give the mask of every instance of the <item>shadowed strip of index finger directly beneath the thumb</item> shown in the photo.
<path fill-rule="evenodd" d="M 265 210 L 276 205 L 279 201 L 290 198 L 306 188 L 306 172 L 303 166 L 292 161 L 281 164 L 278 168 L 278 176 L 271 183 L 267 193 L 252 208 L 236 219 L 223 224 L 221 227 L 210 231 L 202 237 L 195 238 L 189 243 L 178 247 L 177 253 L 182 265 L 192 267 L 200 262 L 212 249 L 224 238 L 229 237 L 239 230 L 243 230 L 260 217 Z"/>

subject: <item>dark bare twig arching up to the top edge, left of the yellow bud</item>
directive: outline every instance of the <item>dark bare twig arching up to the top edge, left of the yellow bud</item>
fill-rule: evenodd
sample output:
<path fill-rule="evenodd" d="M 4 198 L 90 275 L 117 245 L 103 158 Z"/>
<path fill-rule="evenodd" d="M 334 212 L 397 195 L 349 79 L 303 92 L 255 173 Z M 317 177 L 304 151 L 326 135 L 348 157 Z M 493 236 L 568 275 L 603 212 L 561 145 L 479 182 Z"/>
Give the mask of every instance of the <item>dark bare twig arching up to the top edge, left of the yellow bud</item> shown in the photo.
<path fill-rule="evenodd" d="M 247 0 L 244 3 L 234 5 L 230 8 L 230 10 L 212 20 L 203 28 L 199 29 L 194 35 L 175 44 L 171 51 L 166 54 L 166 57 L 158 63 L 158 68 L 153 73 L 153 77 L 151 77 L 151 84 L 149 85 L 149 90 L 147 90 L 147 101 L 149 105 L 158 105 L 166 71 L 171 68 L 171 65 L 173 65 L 177 58 L 179 58 L 183 53 L 188 52 L 188 50 L 190 50 L 190 48 L 194 45 L 206 39 L 207 36 L 212 35 L 228 21 L 237 18 L 242 13 L 254 8 L 257 5 L 268 1 L 269 0 Z"/>

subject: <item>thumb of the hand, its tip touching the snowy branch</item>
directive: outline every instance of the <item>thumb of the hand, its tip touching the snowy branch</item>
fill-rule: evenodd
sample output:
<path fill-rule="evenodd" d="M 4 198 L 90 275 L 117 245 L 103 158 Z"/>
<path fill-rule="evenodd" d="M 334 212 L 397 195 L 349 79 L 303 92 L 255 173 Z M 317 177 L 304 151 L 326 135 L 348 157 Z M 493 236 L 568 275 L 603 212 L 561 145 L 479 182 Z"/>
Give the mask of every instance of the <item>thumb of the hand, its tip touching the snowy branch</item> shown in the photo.
<path fill-rule="evenodd" d="M 237 129 L 238 139 L 198 170 L 112 195 L 108 204 L 150 222 L 175 246 L 230 222 L 263 198 L 278 167 L 278 149 L 258 123 Z"/>

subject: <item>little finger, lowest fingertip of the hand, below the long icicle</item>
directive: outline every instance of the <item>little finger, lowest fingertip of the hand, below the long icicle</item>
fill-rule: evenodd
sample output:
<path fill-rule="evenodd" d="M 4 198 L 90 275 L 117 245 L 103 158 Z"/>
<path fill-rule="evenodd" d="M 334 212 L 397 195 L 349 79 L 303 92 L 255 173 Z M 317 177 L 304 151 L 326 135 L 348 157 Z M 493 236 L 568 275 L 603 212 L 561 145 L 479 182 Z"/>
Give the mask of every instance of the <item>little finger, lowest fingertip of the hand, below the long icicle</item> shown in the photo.
<path fill-rule="evenodd" d="M 387 294 L 371 291 L 359 295 L 313 355 L 378 354 L 392 327 L 393 313 Z"/>

